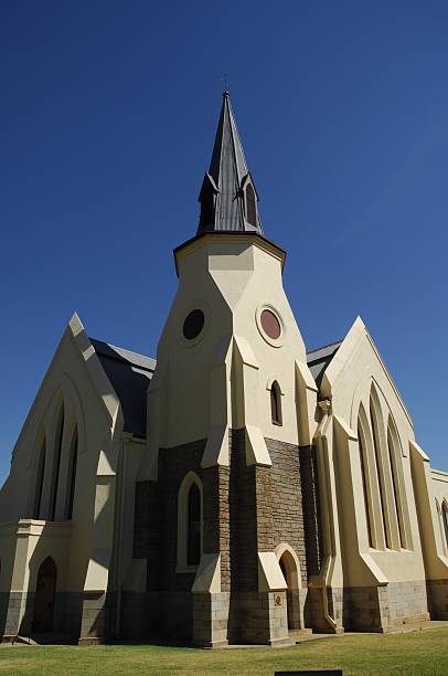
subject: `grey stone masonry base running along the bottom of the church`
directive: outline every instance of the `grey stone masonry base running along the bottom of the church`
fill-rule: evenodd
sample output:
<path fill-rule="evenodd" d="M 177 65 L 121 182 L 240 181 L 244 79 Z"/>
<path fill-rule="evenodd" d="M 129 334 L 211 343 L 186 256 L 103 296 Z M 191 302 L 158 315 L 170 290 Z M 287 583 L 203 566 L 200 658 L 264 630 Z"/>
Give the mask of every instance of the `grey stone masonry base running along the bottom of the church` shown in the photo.
<path fill-rule="evenodd" d="M 32 634 L 34 594 L 8 596 L 0 598 L 0 636 L 9 641 Z M 76 637 L 81 645 L 159 635 L 202 647 L 274 645 L 288 641 L 288 631 L 305 627 L 387 632 L 429 617 L 448 620 L 448 580 L 331 589 L 327 590 L 327 608 L 322 589 L 317 587 L 289 592 L 122 592 L 117 636 L 109 626 L 111 601 L 102 591 L 57 593 L 53 632 Z M 326 611 L 335 627 L 326 620 Z"/>

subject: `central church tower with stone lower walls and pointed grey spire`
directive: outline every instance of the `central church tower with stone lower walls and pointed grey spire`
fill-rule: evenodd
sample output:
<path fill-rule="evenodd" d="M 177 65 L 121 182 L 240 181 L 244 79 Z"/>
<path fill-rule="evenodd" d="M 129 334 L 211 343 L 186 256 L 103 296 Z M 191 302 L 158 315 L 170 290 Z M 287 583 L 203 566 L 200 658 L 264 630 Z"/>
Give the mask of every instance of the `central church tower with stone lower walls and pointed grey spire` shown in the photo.
<path fill-rule="evenodd" d="M 227 92 L 199 201 L 148 389 L 135 557 L 153 627 L 274 644 L 303 629 L 319 563 L 317 387 Z"/>

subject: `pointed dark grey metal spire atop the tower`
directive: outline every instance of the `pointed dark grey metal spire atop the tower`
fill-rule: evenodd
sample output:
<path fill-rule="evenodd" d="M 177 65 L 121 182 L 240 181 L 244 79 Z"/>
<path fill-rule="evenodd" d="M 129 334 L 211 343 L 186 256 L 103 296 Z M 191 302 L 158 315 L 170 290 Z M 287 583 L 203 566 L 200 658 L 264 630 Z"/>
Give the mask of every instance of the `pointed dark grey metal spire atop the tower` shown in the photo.
<path fill-rule="evenodd" d="M 247 169 L 228 92 L 223 94 L 212 160 L 202 182 L 199 201 L 201 216 L 198 234 L 215 231 L 263 234 L 258 196 Z"/>

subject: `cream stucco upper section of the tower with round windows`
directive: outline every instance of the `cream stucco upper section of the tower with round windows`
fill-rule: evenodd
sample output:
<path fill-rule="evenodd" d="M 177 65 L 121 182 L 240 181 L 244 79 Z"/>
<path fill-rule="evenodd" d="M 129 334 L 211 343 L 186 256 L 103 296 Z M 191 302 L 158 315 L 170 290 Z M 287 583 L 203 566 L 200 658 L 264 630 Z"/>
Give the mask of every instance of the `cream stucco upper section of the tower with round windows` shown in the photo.
<path fill-rule="evenodd" d="M 282 263 L 280 249 L 249 235 L 206 235 L 177 251 L 179 288 L 149 387 L 152 455 L 159 447 L 207 437 L 204 463 L 226 463 L 230 426 L 246 427 L 249 462 L 269 464 L 264 437 L 309 443 L 314 425 L 309 397 L 316 403 L 317 388 L 282 287 Z M 266 339 L 259 328 L 265 306 L 280 318 L 278 341 Z M 194 308 L 203 310 L 205 326 L 198 339 L 189 341 L 182 326 Z M 271 423 L 273 380 L 281 390 L 281 426 Z M 142 475 L 151 475 L 156 462 Z"/>

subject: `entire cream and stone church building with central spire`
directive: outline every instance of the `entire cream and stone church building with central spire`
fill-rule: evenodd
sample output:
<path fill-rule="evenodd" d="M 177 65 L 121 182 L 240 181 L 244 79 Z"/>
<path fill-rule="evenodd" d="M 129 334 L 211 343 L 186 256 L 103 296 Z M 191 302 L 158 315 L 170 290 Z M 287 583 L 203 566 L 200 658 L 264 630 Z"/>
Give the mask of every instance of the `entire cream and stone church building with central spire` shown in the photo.
<path fill-rule="evenodd" d="M 76 314 L 62 336 L 0 490 L 0 636 L 217 647 L 448 620 L 448 474 L 360 317 L 307 352 L 227 92 L 199 201 L 157 359 Z"/>

